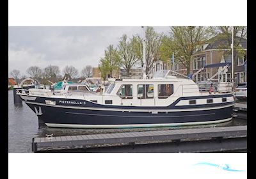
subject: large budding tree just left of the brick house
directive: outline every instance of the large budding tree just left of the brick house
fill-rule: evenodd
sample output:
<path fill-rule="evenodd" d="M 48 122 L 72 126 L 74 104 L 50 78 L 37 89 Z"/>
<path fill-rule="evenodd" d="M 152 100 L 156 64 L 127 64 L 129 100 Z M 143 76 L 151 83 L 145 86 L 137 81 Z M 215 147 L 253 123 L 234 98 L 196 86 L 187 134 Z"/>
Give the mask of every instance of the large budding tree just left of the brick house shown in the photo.
<path fill-rule="evenodd" d="M 211 37 L 211 27 L 201 26 L 175 26 L 170 28 L 170 38 L 173 41 L 175 59 L 180 61 L 190 71 L 190 62 L 193 54 Z"/>

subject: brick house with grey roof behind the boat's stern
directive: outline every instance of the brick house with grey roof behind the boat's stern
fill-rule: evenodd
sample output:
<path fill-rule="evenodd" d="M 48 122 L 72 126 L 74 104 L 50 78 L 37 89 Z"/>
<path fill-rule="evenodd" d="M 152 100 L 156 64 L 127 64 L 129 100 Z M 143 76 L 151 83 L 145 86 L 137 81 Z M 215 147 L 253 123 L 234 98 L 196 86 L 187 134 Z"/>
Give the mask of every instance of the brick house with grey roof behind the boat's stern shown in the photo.
<path fill-rule="evenodd" d="M 236 37 L 237 40 L 239 37 Z M 212 38 L 209 40 L 211 43 L 206 43 L 202 45 L 198 51 L 193 54 L 193 60 L 190 64 L 190 71 L 194 74 L 204 65 L 209 65 L 212 63 L 221 63 L 221 62 L 230 62 L 232 61 L 232 56 L 230 55 L 231 49 L 221 49 L 223 44 L 227 43 L 225 40 L 220 38 Z M 227 44 L 225 44 L 227 46 Z M 235 56 L 234 58 L 234 78 L 236 83 L 246 82 L 246 69 L 244 67 L 244 62 L 246 61 L 247 56 L 247 40 L 241 38 L 240 47 L 243 47 L 245 55 L 241 58 Z M 216 74 L 218 69 L 215 68 L 206 68 L 200 74 L 198 74 L 198 81 L 205 81 L 207 78 Z M 228 78 L 231 77 L 231 68 L 228 68 Z M 196 77 L 196 76 L 195 76 Z M 194 77 L 194 81 L 196 81 Z"/>

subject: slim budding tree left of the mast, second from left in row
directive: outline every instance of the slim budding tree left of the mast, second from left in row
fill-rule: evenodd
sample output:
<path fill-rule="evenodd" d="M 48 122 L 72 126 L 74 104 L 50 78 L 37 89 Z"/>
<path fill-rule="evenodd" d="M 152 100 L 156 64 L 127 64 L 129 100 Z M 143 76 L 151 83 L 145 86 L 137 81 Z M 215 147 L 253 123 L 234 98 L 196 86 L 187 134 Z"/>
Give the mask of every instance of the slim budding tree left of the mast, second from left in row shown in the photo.
<path fill-rule="evenodd" d="M 118 54 L 120 56 L 120 66 L 125 69 L 127 77 L 129 77 L 132 66 L 138 61 L 138 58 L 136 58 L 136 43 L 127 40 L 127 35 L 123 35 L 118 44 Z"/>

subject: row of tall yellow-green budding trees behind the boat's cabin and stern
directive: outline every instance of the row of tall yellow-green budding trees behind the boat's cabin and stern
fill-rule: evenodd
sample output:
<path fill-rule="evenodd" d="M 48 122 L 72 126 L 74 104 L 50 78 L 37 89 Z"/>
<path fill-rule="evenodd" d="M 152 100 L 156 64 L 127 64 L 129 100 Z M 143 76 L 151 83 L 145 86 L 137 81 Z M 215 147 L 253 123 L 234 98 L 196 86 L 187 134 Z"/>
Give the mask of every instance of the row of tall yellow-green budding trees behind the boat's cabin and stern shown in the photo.
<path fill-rule="evenodd" d="M 234 27 L 234 57 L 244 56 L 241 40 L 247 39 L 247 27 Z M 175 54 L 175 63 L 182 63 L 190 71 L 193 54 L 206 43 L 221 40 L 218 49 L 230 49 L 232 43 L 232 27 L 223 26 L 174 26 L 170 27 L 168 35 L 157 33 L 154 27 L 147 27 L 145 31 L 146 43 L 146 74 L 152 69 L 154 61 L 170 62 Z M 143 66 L 143 39 L 140 35 L 122 35 L 118 45 L 109 45 L 104 57 L 100 58 L 99 69 L 102 77 L 113 77 L 113 72 L 124 68 L 129 76 L 132 66 Z M 231 54 L 225 51 L 224 56 Z"/>

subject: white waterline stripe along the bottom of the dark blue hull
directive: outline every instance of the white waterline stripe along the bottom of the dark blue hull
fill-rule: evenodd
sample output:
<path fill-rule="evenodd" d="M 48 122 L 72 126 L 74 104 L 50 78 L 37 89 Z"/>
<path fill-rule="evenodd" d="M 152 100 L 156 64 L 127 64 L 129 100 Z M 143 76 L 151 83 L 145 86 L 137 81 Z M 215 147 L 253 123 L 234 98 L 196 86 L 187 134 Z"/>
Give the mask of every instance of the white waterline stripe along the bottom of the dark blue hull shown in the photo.
<path fill-rule="evenodd" d="M 45 123 L 48 127 L 69 127 L 69 128 L 136 128 L 136 127 L 172 127 L 181 125 L 206 125 L 212 123 L 223 123 L 230 121 L 232 118 L 216 121 L 200 121 L 188 123 L 156 123 L 156 124 L 132 124 L 132 125 L 77 125 L 77 124 L 60 124 L 60 123 Z"/>

